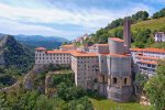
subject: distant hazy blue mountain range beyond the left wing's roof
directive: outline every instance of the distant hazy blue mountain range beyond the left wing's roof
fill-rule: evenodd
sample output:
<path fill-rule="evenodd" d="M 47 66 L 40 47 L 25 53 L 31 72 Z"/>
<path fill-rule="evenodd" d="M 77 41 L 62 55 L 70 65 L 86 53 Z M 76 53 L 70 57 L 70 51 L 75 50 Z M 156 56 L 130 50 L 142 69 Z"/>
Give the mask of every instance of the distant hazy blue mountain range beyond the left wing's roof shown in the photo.
<path fill-rule="evenodd" d="M 42 36 L 42 35 L 14 35 L 15 40 L 22 44 L 34 47 L 44 46 L 46 48 L 57 48 L 64 42 L 69 42 L 66 38 L 58 36 Z"/>

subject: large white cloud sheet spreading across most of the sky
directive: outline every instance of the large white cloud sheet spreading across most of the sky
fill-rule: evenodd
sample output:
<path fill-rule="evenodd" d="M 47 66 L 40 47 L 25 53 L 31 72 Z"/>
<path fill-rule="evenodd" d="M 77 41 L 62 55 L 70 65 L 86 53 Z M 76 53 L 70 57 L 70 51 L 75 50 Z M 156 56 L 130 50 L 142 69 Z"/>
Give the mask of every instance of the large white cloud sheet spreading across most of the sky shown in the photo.
<path fill-rule="evenodd" d="M 125 10 L 81 9 L 77 7 L 74 7 L 73 10 L 52 7 L 31 9 L 0 3 L 0 18 L 3 18 L 0 19 L 0 24 L 4 25 L 4 32 L 8 30 L 8 32 L 15 34 L 79 35 L 86 32 L 56 30 L 20 22 L 75 24 L 82 26 L 84 31 L 94 32 L 114 19 L 123 18 L 127 13 L 130 15 L 139 10 L 150 11 L 151 9 L 141 3 L 125 8 Z"/>

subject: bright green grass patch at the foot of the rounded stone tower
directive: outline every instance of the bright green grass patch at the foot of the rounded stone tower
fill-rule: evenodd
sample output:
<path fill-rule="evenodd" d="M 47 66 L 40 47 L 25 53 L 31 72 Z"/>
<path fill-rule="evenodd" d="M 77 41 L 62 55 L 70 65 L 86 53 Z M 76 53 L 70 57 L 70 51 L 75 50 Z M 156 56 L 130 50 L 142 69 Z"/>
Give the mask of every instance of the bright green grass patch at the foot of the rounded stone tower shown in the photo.
<path fill-rule="evenodd" d="M 89 98 L 95 110 L 151 110 L 148 106 L 142 106 L 135 102 L 119 103 L 109 99 L 97 100 Z"/>

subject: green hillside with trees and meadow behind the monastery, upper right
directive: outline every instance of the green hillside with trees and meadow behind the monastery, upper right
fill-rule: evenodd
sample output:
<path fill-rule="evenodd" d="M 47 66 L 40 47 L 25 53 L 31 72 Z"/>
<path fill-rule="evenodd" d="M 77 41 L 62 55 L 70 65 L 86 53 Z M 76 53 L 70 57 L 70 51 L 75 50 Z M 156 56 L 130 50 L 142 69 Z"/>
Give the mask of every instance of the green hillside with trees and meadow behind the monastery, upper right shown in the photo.
<path fill-rule="evenodd" d="M 157 14 L 155 16 L 155 14 Z M 146 11 L 139 11 L 128 16 L 131 22 L 132 47 L 160 47 L 164 48 L 165 43 L 154 43 L 154 33 L 165 31 L 165 8 L 151 15 Z M 117 19 L 109 23 L 106 28 L 98 30 L 91 34 L 90 38 L 84 44 L 107 43 L 108 37 L 123 38 L 123 19 Z"/>

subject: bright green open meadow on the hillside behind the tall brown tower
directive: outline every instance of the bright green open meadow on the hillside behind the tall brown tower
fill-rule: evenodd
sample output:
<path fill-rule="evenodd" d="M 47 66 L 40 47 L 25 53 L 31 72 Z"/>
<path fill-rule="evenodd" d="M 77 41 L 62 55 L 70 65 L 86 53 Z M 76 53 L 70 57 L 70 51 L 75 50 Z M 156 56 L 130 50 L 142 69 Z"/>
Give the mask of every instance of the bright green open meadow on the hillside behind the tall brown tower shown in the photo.
<path fill-rule="evenodd" d="M 152 19 L 146 21 L 141 21 L 139 23 L 132 24 L 131 30 L 135 31 L 136 29 L 150 29 L 150 30 L 157 30 L 165 26 L 165 18 L 160 19 Z M 109 32 L 112 33 L 117 29 L 121 29 L 122 26 L 110 30 Z"/>

